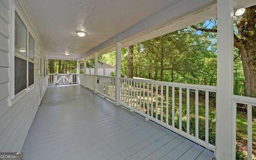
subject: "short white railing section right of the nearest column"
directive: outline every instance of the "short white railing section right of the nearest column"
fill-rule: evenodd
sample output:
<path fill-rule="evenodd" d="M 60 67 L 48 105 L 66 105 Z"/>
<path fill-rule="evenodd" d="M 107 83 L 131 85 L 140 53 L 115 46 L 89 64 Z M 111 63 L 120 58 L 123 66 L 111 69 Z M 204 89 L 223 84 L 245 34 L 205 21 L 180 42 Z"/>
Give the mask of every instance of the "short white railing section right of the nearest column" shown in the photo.
<path fill-rule="evenodd" d="M 236 110 L 238 104 L 246 105 L 247 109 L 247 159 L 252 160 L 252 108 L 256 108 L 256 98 L 236 96 L 232 97 L 233 120 L 232 120 L 232 157 L 236 157 Z"/>

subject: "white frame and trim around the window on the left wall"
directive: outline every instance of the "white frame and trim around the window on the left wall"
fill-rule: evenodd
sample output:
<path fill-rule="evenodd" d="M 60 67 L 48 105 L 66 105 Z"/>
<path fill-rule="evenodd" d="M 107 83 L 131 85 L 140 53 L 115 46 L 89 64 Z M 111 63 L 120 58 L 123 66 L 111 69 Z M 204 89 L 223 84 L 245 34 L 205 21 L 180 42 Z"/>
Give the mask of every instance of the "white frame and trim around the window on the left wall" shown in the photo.
<path fill-rule="evenodd" d="M 30 92 L 33 88 L 34 88 L 34 83 L 36 82 L 35 79 L 33 81 L 33 84 L 31 84 L 29 86 L 29 77 L 28 77 L 28 64 L 29 62 L 33 63 L 33 66 L 35 64 L 35 57 L 34 60 L 29 59 L 29 34 L 31 35 L 31 38 L 33 38 L 34 40 L 34 47 L 35 47 L 35 38 L 32 34 L 32 32 L 30 31 L 30 28 L 28 27 L 28 25 L 26 24 L 26 21 L 24 20 L 24 18 L 21 16 L 22 14 L 20 14 L 19 10 L 17 10 L 15 8 L 14 3 L 12 2 L 12 5 L 10 7 L 10 28 L 11 28 L 11 36 L 10 36 L 10 72 L 9 72 L 9 76 L 10 76 L 10 96 L 8 98 L 9 101 L 9 106 L 12 106 L 13 104 L 15 104 L 16 102 L 18 102 L 18 100 L 20 100 L 22 97 L 24 97 L 26 94 L 28 94 L 28 92 Z M 18 15 L 18 17 L 20 18 L 20 20 L 22 21 L 22 23 L 24 24 L 24 26 L 26 27 L 26 57 L 17 54 L 15 52 L 15 15 Z M 35 55 L 35 52 L 33 50 L 33 54 Z M 15 57 L 20 58 L 22 60 L 26 60 L 26 88 L 24 88 L 23 90 L 21 90 L 20 92 L 15 94 Z M 35 75 L 35 72 L 33 74 L 33 76 Z"/>

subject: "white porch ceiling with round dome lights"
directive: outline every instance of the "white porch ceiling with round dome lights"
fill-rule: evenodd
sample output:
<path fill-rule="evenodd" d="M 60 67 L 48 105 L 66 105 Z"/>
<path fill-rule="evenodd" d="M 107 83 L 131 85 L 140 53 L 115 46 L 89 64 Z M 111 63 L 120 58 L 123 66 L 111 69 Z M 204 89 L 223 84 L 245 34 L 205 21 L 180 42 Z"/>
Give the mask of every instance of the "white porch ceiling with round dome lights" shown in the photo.
<path fill-rule="evenodd" d="M 48 58 L 81 58 L 135 34 L 145 34 L 145 31 L 154 30 L 206 8 L 215 4 L 216 0 L 24 2 L 38 29 Z M 208 17 L 212 18 L 215 14 L 216 12 L 209 14 Z M 78 30 L 87 32 L 87 35 L 80 38 L 76 34 Z M 65 50 L 68 50 L 70 55 L 65 56 Z"/>

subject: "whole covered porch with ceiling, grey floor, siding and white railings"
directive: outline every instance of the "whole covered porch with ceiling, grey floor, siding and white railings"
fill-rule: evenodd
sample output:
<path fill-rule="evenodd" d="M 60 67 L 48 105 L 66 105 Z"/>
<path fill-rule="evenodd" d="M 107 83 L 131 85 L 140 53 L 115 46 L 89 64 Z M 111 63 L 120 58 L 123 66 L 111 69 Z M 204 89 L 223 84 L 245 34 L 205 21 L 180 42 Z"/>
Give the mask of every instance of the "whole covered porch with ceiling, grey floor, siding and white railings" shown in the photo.
<path fill-rule="evenodd" d="M 0 0 L 0 151 L 21 150 L 24 160 L 235 160 L 242 104 L 252 160 L 256 98 L 234 95 L 233 71 L 239 18 L 234 12 L 254 5 L 255 0 Z M 122 48 L 212 18 L 218 18 L 216 86 L 121 77 Z M 115 76 L 99 75 L 99 56 L 114 51 Z M 76 60 L 77 72 L 48 74 L 53 59 Z M 89 59 L 94 74 L 86 72 Z M 16 73 L 18 60 L 24 74 Z M 24 86 L 16 91 L 20 77 Z"/>

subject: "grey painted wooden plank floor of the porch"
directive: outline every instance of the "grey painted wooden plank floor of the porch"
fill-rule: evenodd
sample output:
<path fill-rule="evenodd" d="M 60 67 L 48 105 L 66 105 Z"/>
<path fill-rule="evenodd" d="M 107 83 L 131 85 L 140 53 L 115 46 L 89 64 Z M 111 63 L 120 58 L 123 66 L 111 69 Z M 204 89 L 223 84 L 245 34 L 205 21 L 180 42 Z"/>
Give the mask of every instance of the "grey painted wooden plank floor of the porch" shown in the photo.
<path fill-rule="evenodd" d="M 213 153 L 82 86 L 49 86 L 24 160 L 212 160 Z"/>

